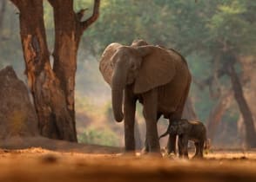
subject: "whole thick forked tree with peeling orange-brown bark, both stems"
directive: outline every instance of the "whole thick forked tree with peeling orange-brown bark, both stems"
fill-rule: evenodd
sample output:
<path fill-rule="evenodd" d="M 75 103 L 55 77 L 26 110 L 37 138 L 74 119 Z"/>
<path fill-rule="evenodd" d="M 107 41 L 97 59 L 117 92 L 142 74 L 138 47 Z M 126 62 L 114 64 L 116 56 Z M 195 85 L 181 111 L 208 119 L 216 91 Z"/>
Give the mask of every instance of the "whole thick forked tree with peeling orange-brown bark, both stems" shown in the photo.
<path fill-rule="evenodd" d="M 80 22 L 73 1 L 49 0 L 54 9 L 55 49 L 53 69 L 44 28 L 43 0 L 10 0 L 20 11 L 20 34 L 25 74 L 33 95 L 40 133 L 52 139 L 77 141 L 74 88 L 77 48 L 84 29 L 98 18 L 99 0 L 93 15 Z M 81 16 L 82 14 L 82 16 Z"/>

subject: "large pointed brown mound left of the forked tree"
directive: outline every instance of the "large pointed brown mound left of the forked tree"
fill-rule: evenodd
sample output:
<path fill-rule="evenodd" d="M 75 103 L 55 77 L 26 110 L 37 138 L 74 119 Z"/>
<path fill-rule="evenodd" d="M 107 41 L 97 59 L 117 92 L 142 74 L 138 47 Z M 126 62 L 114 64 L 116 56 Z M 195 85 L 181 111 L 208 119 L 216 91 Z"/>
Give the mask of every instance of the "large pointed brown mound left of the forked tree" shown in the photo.
<path fill-rule="evenodd" d="M 0 71 L 0 140 L 38 135 L 37 114 L 13 68 Z"/>

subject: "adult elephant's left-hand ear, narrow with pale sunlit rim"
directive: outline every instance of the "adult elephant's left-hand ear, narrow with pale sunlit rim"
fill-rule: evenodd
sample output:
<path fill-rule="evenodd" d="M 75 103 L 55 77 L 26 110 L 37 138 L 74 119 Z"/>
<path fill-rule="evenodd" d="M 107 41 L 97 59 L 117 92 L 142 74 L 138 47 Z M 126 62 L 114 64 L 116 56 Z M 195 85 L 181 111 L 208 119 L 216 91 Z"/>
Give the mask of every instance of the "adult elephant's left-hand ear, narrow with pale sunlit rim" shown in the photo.
<path fill-rule="evenodd" d="M 122 47 L 120 43 L 111 43 L 104 49 L 99 61 L 99 70 L 106 81 L 111 86 L 111 78 L 113 73 L 113 68 L 111 65 L 111 57 L 115 54 L 118 48 Z"/>

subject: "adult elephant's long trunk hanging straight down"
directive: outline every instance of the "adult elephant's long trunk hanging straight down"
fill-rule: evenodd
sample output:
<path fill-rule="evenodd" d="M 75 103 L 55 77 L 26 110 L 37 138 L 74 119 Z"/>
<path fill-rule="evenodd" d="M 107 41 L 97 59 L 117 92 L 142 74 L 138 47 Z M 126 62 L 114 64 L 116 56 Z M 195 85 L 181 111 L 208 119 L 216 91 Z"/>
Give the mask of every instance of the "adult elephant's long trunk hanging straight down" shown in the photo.
<path fill-rule="evenodd" d="M 115 120 L 121 122 L 124 119 L 124 113 L 122 109 L 123 105 L 123 91 L 125 88 L 126 74 L 125 71 L 116 69 L 112 76 L 111 83 L 111 96 L 112 96 L 112 107 Z"/>

